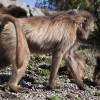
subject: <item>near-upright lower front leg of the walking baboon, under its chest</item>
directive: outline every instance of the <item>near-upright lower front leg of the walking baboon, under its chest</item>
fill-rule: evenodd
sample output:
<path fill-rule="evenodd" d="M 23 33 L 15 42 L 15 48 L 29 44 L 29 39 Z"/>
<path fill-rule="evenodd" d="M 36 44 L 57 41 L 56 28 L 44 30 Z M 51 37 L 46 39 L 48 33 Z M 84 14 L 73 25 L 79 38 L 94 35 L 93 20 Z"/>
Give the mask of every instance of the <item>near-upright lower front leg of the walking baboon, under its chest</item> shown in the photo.
<path fill-rule="evenodd" d="M 50 70 L 50 79 L 49 79 L 49 88 L 54 89 L 56 86 L 55 79 L 58 73 L 58 69 L 60 67 L 60 62 L 62 60 L 62 53 L 53 53 L 52 57 L 52 66 Z"/>

